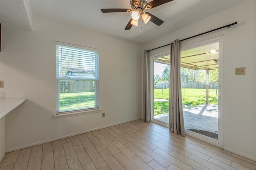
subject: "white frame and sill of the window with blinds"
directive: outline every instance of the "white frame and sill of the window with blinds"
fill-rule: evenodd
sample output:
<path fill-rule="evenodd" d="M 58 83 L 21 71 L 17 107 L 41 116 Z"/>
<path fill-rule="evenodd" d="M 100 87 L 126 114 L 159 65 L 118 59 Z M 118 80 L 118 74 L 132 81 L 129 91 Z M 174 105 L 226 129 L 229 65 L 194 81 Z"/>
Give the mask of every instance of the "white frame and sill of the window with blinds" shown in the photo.
<path fill-rule="evenodd" d="M 62 78 L 59 77 L 59 58 L 57 57 L 57 46 L 66 46 L 66 47 L 72 47 L 82 50 L 88 50 L 88 51 L 94 51 L 97 53 L 96 59 L 95 59 L 95 72 L 94 72 L 94 78 Z M 70 43 L 63 43 L 56 41 L 55 43 L 55 58 L 56 58 L 56 115 L 54 115 L 54 118 L 61 118 L 61 117 L 69 117 L 73 116 L 72 114 L 81 115 L 81 113 L 88 114 L 88 113 L 96 113 L 100 111 L 99 109 L 99 49 L 91 48 L 91 47 L 85 47 L 81 45 L 74 45 Z M 96 74 L 96 75 L 95 75 Z M 78 75 L 78 74 L 77 74 Z M 74 76 L 74 75 L 72 75 Z M 64 110 L 60 111 L 60 81 L 94 81 L 94 107 L 84 107 L 84 108 L 78 108 L 78 109 L 71 109 L 71 110 Z"/>

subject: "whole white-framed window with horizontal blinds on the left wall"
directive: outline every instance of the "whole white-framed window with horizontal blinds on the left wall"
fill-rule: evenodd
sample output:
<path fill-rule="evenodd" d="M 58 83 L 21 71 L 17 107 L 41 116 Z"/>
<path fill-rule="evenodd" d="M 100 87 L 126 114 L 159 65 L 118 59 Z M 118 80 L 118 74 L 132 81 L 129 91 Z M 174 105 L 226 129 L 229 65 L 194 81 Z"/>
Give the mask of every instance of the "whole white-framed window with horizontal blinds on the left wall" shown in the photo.
<path fill-rule="evenodd" d="M 99 50 L 56 42 L 56 113 L 99 108 Z"/>

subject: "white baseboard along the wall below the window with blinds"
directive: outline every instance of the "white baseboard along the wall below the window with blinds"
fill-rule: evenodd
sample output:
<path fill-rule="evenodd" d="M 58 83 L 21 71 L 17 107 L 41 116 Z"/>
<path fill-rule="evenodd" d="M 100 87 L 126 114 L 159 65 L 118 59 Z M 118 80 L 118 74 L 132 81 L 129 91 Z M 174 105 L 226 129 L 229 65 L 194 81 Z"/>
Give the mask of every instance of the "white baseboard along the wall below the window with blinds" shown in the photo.
<path fill-rule="evenodd" d="M 87 132 L 91 132 L 91 131 L 96 131 L 96 130 L 99 130 L 99 129 L 104 129 L 104 128 L 106 128 L 106 127 L 111 127 L 111 126 L 119 125 L 119 124 L 122 124 L 122 123 L 127 123 L 127 122 L 130 122 L 130 121 L 135 121 L 135 120 L 139 120 L 139 119 L 142 119 L 142 117 L 138 117 L 138 118 L 136 118 L 136 119 L 131 119 L 131 120 L 128 120 L 128 121 L 122 121 L 122 122 L 119 122 L 119 123 L 114 123 L 114 124 L 111 124 L 111 125 L 106 125 L 106 126 L 102 126 L 102 127 L 97 127 L 97 128 L 94 128 L 94 129 L 89 129 L 89 130 L 87 130 L 87 131 L 82 131 L 82 132 L 78 132 L 78 133 L 66 135 L 66 136 L 63 136 L 63 137 L 58 137 L 58 138 L 55 138 L 55 139 L 50 139 L 50 140 L 47 140 L 47 141 L 42 141 L 42 142 L 39 142 L 39 143 L 34 143 L 34 144 L 30 144 L 30 145 L 24 145 L 24 146 L 22 146 L 22 147 L 16 147 L 16 148 L 12 148 L 12 149 L 6 149 L 5 152 L 8 153 L 8 152 L 13 152 L 13 151 L 20 150 L 20 149 L 25 149 L 25 148 L 29 148 L 29 147 L 34 147 L 34 146 L 41 145 L 41 144 L 44 144 L 44 143 L 49 143 L 49 142 L 57 141 L 57 140 L 64 139 L 64 138 L 67 138 L 67 137 L 72 137 L 72 136 L 76 136 L 76 135 L 81 135 L 81 134 L 83 134 L 83 133 L 87 133 Z M 5 154 L 5 153 L 4 153 L 4 154 Z"/>

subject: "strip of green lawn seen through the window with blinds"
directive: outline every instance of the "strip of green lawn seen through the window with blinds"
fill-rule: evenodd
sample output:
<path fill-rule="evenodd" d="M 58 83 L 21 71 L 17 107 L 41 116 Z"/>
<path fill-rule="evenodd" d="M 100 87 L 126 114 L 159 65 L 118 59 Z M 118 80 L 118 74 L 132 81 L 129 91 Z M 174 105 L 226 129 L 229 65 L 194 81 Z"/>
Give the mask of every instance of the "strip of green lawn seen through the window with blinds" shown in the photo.
<path fill-rule="evenodd" d="M 60 94 L 60 111 L 84 107 L 94 107 L 94 92 Z"/>

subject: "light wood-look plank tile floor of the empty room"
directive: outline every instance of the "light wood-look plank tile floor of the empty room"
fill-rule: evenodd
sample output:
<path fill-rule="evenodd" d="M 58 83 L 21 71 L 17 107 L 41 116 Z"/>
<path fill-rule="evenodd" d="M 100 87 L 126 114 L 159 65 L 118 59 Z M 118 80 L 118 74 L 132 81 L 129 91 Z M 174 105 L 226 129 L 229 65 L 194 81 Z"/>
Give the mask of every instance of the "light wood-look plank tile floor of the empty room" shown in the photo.
<path fill-rule="evenodd" d="M 5 154 L 1 170 L 256 170 L 256 162 L 142 120 Z"/>

